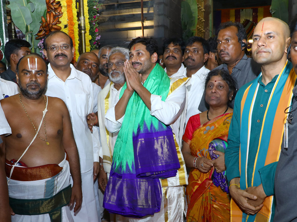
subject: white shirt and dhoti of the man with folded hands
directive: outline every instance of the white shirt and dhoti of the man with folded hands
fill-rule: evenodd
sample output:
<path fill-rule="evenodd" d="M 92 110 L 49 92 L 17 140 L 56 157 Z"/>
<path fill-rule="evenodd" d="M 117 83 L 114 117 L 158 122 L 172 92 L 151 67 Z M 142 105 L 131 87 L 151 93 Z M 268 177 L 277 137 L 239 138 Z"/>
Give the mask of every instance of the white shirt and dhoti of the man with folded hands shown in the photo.
<path fill-rule="evenodd" d="M 121 128 L 124 116 L 116 121 L 115 105 L 119 101 L 120 91 L 116 95 L 115 104 L 108 109 L 105 115 L 105 126 L 110 132 L 117 132 Z M 158 120 L 166 125 L 170 125 L 173 133 L 179 133 L 179 127 L 174 122 L 180 122 L 181 112 L 186 103 L 186 86 L 173 91 L 167 96 L 165 101 L 162 101 L 162 96 L 151 95 L 151 115 L 155 116 Z M 181 157 L 182 160 L 183 157 Z M 184 165 L 185 168 L 185 165 Z M 182 221 L 184 213 L 184 190 L 183 185 L 179 185 L 178 173 L 176 177 L 168 178 L 168 187 L 163 187 L 163 197 L 161 203 L 161 210 L 153 216 L 146 216 L 144 218 L 125 218 L 117 215 L 118 222 L 140 222 L 140 221 L 167 221 L 166 217 L 169 216 L 170 221 Z M 186 179 L 187 181 L 187 179 Z M 162 183 L 161 183 L 162 184 Z"/>

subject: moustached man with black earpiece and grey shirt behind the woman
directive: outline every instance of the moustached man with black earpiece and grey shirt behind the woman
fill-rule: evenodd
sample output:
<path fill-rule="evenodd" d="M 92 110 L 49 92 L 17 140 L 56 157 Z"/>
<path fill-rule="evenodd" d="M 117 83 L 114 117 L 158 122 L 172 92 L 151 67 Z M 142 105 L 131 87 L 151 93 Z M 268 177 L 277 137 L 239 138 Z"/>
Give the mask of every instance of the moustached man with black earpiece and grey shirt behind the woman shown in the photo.
<path fill-rule="evenodd" d="M 240 22 L 224 22 L 219 25 L 217 30 L 217 50 L 219 58 L 223 64 L 216 69 L 225 69 L 236 79 L 237 89 L 244 84 L 254 80 L 261 72 L 258 65 L 252 58 L 248 58 L 245 54 L 247 47 L 247 33 L 244 26 Z M 201 112 L 208 110 L 208 104 L 202 97 L 199 104 Z M 234 106 L 234 99 L 230 103 L 230 107 Z"/>

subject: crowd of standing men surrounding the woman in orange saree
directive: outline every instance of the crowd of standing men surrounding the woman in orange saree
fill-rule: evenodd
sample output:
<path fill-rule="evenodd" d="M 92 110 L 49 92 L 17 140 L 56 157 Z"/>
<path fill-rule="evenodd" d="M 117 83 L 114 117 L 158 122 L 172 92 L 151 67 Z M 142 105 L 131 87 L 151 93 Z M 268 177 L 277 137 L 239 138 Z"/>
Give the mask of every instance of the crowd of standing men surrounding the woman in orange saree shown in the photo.
<path fill-rule="evenodd" d="M 182 136 L 189 118 L 208 110 L 213 69 L 228 71 L 240 89 L 225 153 L 227 179 L 237 185 L 231 215 L 296 220 L 297 17 L 290 29 L 264 18 L 252 38 L 252 58 L 238 22 L 222 23 L 208 40 L 168 38 L 165 69 L 153 38 L 103 46 L 74 64 L 64 32 L 45 38 L 48 64 L 28 42 L 8 41 L 0 221 L 97 222 L 104 209 L 111 221 L 184 221 Z"/>

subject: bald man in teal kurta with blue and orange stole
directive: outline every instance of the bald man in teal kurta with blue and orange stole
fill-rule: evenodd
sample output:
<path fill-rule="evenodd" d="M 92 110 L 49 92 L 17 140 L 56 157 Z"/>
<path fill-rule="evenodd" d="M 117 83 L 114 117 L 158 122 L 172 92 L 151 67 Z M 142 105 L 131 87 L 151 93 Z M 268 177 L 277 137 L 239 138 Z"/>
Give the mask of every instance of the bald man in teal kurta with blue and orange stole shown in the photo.
<path fill-rule="evenodd" d="M 274 220 L 274 192 L 285 189 L 283 183 L 274 189 L 274 176 L 282 144 L 287 147 L 283 136 L 288 114 L 284 110 L 291 106 L 296 74 L 287 60 L 290 30 L 285 22 L 263 18 L 252 39 L 252 55 L 262 72 L 236 95 L 225 165 L 232 196 L 231 221 L 242 217 L 261 222 Z"/>

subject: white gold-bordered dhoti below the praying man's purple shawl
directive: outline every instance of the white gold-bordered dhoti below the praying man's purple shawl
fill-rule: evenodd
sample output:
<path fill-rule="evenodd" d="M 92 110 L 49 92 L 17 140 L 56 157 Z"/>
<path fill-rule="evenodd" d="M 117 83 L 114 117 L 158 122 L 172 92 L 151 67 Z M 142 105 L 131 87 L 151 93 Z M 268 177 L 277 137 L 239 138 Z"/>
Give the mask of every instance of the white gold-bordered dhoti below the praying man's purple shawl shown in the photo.
<path fill-rule="evenodd" d="M 127 218 L 116 215 L 117 222 L 183 222 L 184 221 L 184 186 L 163 187 L 161 209 L 154 215 L 143 218 Z"/>

